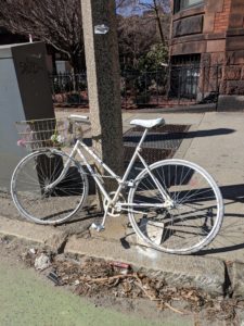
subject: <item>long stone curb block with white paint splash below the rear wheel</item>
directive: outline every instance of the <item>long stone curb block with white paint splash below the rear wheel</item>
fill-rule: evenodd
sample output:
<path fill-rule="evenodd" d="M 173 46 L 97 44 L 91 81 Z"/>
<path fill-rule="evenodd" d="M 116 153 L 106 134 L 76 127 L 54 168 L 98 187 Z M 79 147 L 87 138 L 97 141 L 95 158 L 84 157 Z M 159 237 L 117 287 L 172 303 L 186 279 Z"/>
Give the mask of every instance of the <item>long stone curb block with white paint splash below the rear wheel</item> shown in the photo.
<path fill-rule="evenodd" d="M 76 236 L 69 238 L 65 252 L 127 262 L 133 269 L 172 286 L 195 287 L 215 296 L 224 292 L 224 264 L 215 259 L 172 256 L 141 246 L 124 249 L 117 241 Z"/>

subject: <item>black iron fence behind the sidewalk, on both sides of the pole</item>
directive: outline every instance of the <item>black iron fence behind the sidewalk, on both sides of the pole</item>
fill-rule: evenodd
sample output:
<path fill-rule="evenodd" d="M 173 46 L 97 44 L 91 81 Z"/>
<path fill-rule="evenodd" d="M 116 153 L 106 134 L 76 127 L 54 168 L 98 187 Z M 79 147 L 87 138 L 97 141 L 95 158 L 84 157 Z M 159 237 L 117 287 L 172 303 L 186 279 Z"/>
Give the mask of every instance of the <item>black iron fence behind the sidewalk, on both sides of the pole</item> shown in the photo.
<path fill-rule="evenodd" d="M 153 72 L 124 71 L 120 78 L 123 108 L 174 106 L 211 103 L 219 95 L 221 65 L 170 65 Z M 87 74 L 50 75 L 53 102 L 89 105 Z"/>

